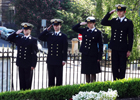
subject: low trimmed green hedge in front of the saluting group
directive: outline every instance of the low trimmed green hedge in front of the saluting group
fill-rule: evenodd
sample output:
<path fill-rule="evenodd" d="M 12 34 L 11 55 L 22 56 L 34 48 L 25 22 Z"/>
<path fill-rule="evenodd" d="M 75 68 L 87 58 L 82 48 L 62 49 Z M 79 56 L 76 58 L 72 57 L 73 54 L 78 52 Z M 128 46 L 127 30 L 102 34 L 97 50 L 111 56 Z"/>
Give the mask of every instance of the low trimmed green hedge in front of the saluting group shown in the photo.
<path fill-rule="evenodd" d="M 117 81 L 93 82 L 78 85 L 54 86 L 39 90 L 11 91 L 0 93 L 0 100 L 69 100 L 79 91 L 117 90 L 119 98 L 138 97 L 140 79 L 122 79 Z"/>

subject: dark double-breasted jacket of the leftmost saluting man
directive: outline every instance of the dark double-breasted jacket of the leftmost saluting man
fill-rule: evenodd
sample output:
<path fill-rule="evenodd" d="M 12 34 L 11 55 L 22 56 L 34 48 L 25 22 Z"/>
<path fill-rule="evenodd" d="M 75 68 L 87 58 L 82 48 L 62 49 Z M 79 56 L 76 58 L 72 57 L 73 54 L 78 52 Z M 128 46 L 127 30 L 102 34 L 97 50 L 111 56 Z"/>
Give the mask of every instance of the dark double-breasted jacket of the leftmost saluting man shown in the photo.
<path fill-rule="evenodd" d="M 37 39 L 29 36 L 19 36 L 14 32 L 9 35 L 8 40 L 17 45 L 16 65 L 19 67 L 35 67 L 37 63 Z"/>

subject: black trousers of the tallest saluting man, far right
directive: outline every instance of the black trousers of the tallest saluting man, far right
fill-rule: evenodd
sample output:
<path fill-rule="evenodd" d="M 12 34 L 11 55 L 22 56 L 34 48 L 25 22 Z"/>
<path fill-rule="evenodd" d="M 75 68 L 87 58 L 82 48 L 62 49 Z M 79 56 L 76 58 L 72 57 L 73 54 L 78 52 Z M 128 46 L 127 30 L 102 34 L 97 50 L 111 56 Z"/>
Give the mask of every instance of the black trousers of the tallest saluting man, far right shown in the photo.
<path fill-rule="evenodd" d="M 127 61 L 126 51 L 116 51 L 112 50 L 112 72 L 113 79 L 123 79 L 125 78 L 126 72 L 126 61 Z"/>

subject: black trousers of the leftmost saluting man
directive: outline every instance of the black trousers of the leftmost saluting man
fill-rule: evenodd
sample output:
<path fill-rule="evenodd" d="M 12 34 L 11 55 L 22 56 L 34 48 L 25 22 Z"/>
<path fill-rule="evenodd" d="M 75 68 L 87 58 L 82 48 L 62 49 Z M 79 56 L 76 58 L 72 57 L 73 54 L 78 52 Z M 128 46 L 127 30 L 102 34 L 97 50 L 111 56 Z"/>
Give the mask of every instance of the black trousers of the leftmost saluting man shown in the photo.
<path fill-rule="evenodd" d="M 20 90 L 31 89 L 33 70 L 19 67 Z"/>

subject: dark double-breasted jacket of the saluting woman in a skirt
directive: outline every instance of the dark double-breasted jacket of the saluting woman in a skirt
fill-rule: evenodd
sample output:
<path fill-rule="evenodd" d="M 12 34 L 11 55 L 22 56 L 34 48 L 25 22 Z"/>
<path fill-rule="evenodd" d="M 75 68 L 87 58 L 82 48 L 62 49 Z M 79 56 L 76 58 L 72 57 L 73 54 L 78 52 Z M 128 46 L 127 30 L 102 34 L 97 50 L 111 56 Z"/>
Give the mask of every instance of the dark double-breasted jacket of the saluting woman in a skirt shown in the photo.
<path fill-rule="evenodd" d="M 97 28 L 95 28 L 92 33 L 88 32 L 88 28 L 80 28 L 80 23 L 72 28 L 75 32 L 82 34 L 82 44 L 80 47 L 80 52 L 94 56 L 97 59 L 102 59 L 103 53 L 103 42 L 102 33 Z"/>

